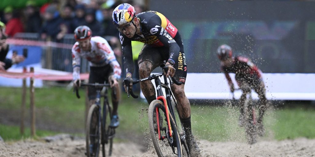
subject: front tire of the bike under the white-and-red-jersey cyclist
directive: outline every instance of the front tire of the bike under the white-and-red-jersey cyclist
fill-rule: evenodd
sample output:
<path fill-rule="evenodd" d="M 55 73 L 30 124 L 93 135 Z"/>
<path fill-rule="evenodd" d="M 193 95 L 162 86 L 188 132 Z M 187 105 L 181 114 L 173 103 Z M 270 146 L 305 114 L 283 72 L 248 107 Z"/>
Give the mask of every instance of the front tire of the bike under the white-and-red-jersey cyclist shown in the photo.
<path fill-rule="evenodd" d="M 99 107 L 96 104 L 93 104 L 89 108 L 89 113 L 86 121 L 86 134 L 85 134 L 85 139 L 86 139 L 86 155 L 88 157 L 98 157 L 100 153 L 100 122 L 99 122 Z M 92 128 L 93 124 L 93 118 L 96 116 L 96 127 L 95 130 Z M 92 132 L 95 131 L 95 134 L 92 134 Z M 91 136 L 95 136 L 94 142 L 91 141 Z M 94 149 L 93 153 L 91 155 L 90 152 L 90 144 L 94 144 Z"/>

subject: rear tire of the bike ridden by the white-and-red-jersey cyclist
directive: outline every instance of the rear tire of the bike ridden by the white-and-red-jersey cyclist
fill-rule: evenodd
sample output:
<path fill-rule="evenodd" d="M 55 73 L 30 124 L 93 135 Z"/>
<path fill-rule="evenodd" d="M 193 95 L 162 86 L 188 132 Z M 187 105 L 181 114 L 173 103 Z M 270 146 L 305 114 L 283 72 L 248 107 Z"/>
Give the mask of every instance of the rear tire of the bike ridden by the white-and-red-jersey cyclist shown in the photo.
<path fill-rule="evenodd" d="M 112 111 L 109 105 L 107 104 L 108 102 L 105 102 L 103 106 L 103 120 L 102 120 L 102 156 L 106 157 L 106 152 L 108 152 L 108 156 L 112 156 L 112 148 L 113 148 L 113 137 L 109 137 L 111 134 L 111 129 L 109 127 L 109 123 L 112 120 Z M 106 108 L 105 108 L 106 107 Z M 105 110 L 106 109 L 106 110 Z M 108 119 L 107 119 L 108 117 Z M 106 129 L 107 128 L 107 129 Z M 107 147 L 106 147 L 107 145 Z M 106 151 L 107 150 L 107 151 Z"/>

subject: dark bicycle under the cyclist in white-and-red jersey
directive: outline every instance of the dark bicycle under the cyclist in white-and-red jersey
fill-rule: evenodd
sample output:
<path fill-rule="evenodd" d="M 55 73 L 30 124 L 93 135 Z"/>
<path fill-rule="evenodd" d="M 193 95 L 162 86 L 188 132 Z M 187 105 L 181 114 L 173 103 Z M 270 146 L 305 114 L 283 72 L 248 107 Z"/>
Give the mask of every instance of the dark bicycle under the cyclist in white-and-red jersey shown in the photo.
<path fill-rule="evenodd" d="M 81 86 L 92 86 L 96 90 L 95 104 L 90 106 L 87 120 L 86 120 L 86 155 L 88 157 L 98 157 L 100 153 L 100 144 L 102 145 L 102 155 L 106 156 L 105 144 L 108 144 L 108 156 L 112 155 L 113 138 L 115 136 L 115 128 L 109 126 L 112 120 L 112 108 L 108 103 L 107 88 L 110 84 L 90 84 L 81 83 Z M 104 95 L 101 95 L 101 89 L 105 87 Z M 80 98 L 78 89 L 76 90 L 77 98 Z M 115 92 L 115 90 L 113 90 Z M 114 96 L 116 94 L 114 93 Z M 100 99 L 104 97 L 103 111 L 101 110 Z M 109 117 L 108 117 L 108 116 Z M 96 125 L 96 126 L 95 126 Z M 92 152 L 90 152 L 90 146 L 93 145 Z"/>

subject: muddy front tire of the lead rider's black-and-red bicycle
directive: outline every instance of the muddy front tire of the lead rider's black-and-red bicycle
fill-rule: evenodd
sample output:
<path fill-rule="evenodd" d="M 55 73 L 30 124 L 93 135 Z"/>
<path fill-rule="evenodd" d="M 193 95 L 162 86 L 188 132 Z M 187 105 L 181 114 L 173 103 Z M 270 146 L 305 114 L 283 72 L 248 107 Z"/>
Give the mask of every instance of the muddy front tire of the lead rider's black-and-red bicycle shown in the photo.
<path fill-rule="evenodd" d="M 163 140 L 158 139 L 158 134 L 156 133 L 156 131 L 154 129 L 155 124 L 153 122 L 153 118 L 156 118 L 156 115 L 154 115 L 154 113 L 156 113 L 156 108 L 159 109 L 158 111 L 160 112 L 159 113 L 160 116 L 164 117 L 164 119 L 162 118 L 163 123 L 167 124 L 168 122 L 166 121 L 166 113 L 165 113 L 164 104 L 160 100 L 153 100 L 149 106 L 148 117 L 149 117 L 149 129 L 150 129 L 150 133 L 151 133 L 152 143 L 153 143 L 153 146 L 154 146 L 155 151 L 157 153 L 157 156 L 158 157 L 164 157 L 166 155 L 163 155 L 163 154 L 168 154 L 168 156 L 182 157 L 182 148 L 181 148 L 181 143 L 180 143 L 180 137 L 179 137 L 174 119 L 171 116 L 171 114 L 169 114 L 169 119 L 170 119 L 170 125 L 172 128 L 172 135 L 173 135 L 172 138 L 170 139 L 170 140 L 172 140 L 172 143 L 170 142 L 169 137 L 167 137 Z M 163 114 L 161 112 L 163 112 Z M 165 135 L 167 136 L 168 127 L 163 127 L 162 129 L 163 130 L 161 130 L 161 134 L 162 134 L 162 132 L 163 133 L 165 132 Z M 164 145 L 165 145 L 165 147 L 164 147 Z M 162 146 L 163 146 L 163 148 L 161 148 Z M 161 149 L 163 149 L 164 151 L 162 151 Z M 168 151 L 168 152 L 166 152 L 166 151 Z M 174 154 L 173 151 L 175 151 L 175 153 L 177 153 L 177 154 Z"/>

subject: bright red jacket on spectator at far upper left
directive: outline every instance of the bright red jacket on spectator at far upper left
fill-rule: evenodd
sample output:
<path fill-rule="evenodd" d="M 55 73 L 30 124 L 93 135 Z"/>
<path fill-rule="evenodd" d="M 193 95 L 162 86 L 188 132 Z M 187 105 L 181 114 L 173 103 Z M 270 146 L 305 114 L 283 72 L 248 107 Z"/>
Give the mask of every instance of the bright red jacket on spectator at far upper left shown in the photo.
<path fill-rule="evenodd" d="M 24 32 L 23 24 L 19 18 L 13 18 L 5 25 L 5 33 L 12 37 L 15 33 Z"/>

